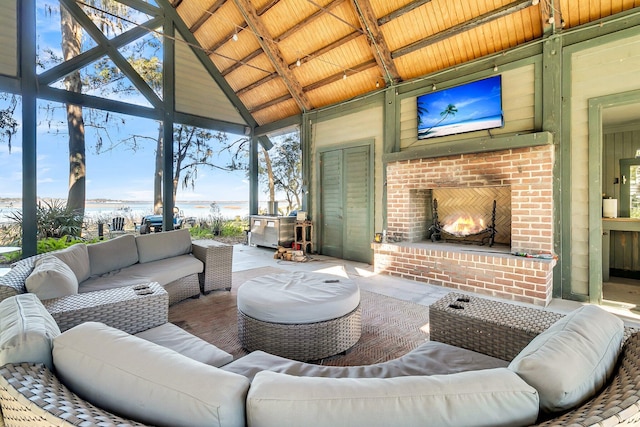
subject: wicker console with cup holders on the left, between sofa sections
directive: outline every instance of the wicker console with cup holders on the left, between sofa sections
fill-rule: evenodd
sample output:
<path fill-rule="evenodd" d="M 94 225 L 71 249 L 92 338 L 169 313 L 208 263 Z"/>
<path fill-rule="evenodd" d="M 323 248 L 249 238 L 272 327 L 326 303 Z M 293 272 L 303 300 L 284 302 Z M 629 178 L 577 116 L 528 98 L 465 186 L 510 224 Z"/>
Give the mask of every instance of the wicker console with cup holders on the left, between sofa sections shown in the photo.
<path fill-rule="evenodd" d="M 168 295 L 157 282 L 68 295 L 43 301 L 61 331 L 102 322 L 130 334 L 167 322 Z"/>

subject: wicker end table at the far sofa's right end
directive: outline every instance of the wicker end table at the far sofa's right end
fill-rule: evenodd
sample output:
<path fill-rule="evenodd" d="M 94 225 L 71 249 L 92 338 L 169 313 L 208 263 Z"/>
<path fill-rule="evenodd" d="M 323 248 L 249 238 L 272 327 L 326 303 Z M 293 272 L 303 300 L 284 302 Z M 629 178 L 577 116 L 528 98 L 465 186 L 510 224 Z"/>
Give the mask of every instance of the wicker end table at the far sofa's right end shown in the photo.
<path fill-rule="evenodd" d="M 233 246 L 215 240 L 195 240 L 191 248 L 193 255 L 204 263 L 204 272 L 198 273 L 202 293 L 231 290 Z"/>

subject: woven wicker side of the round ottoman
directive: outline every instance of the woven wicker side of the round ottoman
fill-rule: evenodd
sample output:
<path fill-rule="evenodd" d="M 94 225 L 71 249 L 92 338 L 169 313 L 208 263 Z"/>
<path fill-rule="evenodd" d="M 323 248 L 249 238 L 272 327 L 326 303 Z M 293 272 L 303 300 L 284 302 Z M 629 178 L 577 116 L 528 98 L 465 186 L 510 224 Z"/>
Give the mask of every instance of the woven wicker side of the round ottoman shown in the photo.
<path fill-rule="evenodd" d="M 317 360 L 353 347 L 362 334 L 362 308 L 336 319 L 315 323 L 283 324 L 254 319 L 238 310 L 238 338 L 247 351 L 294 360 Z"/>

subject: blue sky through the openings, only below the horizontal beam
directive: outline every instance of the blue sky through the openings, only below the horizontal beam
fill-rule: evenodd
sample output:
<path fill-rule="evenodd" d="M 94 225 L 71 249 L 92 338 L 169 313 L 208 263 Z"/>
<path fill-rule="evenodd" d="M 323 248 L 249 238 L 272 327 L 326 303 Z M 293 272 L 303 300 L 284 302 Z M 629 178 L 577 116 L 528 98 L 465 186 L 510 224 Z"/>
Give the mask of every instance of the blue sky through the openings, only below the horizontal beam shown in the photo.
<path fill-rule="evenodd" d="M 40 105 L 46 105 L 41 101 Z M 20 108 L 17 109 L 20 111 Z M 126 116 L 125 116 L 126 117 Z M 95 154 L 95 137 L 87 130 L 87 199 L 153 200 L 153 173 L 155 145 L 152 138 L 157 135 L 157 127 L 150 120 L 126 117 L 133 132 L 148 136 L 147 144 L 133 151 L 119 145 L 112 151 Z M 146 123 L 145 123 L 146 122 Z M 133 125 L 135 123 L 135 125 Z M 146 126 L 141 126 L 145 124 Z M 61 134 L 56 128 L 61 127 Z M 147 129 L 144 129 L 147 128 Z M 115 128 L 114 128 L 115 129 Z M 119 135 L 111 132 L 116 139 Z M 229 135 L 230 140 L 238 138 Z M 105 142 L 107 144 L 107 142 Z M 221 158 L 219 163 L 226 164 Z M 42 198 L 66 198 L 68 189 L 68 138 L 66 124 L 39 120 L 37 179 L 38 196 Z M 22 132 L 12 139 L 9 154 L 5 140 L 0 142 L 0 197 L 20 198 L 22 189 Z M 195 188 L 178 189 L 178 201 L 189 200 L 248 200 L 249 184 L 243 171 L 225 172 L 211 168 L 201 168 Z"/>

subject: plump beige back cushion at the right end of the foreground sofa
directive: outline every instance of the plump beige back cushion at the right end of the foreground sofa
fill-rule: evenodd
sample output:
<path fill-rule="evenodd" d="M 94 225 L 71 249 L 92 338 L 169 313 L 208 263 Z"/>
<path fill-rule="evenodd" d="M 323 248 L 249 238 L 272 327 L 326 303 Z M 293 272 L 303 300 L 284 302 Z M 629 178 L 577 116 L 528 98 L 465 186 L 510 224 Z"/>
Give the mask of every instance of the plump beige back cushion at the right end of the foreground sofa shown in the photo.
<path fill-rule="evenodd" d="M 540 393 L 540 408 L 557 412 L 589 400 L 613 372 L 624 335 L 622 320 L 585 305 L 535 337 L 509 364 Z"/>

